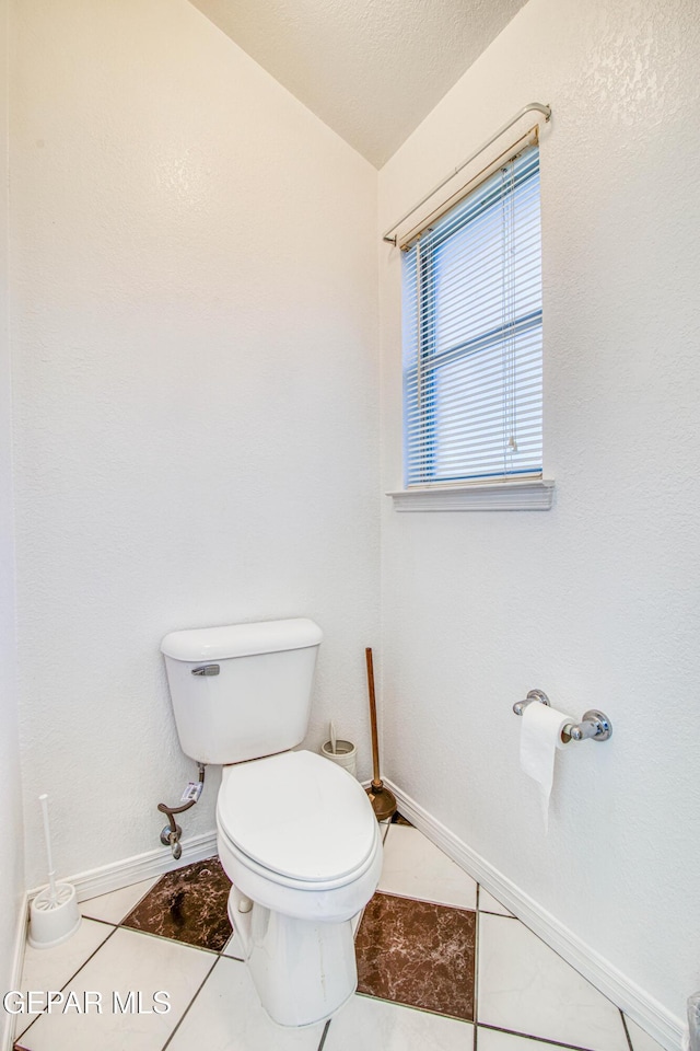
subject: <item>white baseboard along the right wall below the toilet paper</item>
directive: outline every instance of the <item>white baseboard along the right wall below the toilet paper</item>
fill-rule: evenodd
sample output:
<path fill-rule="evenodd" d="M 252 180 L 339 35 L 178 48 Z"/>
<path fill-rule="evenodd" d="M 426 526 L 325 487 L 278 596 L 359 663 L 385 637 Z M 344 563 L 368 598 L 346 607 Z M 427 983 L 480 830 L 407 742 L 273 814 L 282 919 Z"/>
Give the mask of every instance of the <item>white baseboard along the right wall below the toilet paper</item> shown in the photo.
<path fill-rule="evenodd" d="M 431 842 L 456 862 L 460 868 L 498 898 L 506 909 L 546 942 L 580 974 L 612 1001 L 626 1015 L 635 1021 L 654 1040 L 668 1051 L 680 1051 L 684 1023 L 654 1000 L 643 989 L 630 981 L 590 945 L 582 942 L 561 921 L 552 916 L 536 901 L 525 894 L 515 883 L 489 864 L 486 858 L 457 839 L 448 829 L 428 813 L 415 799 L 384 778 L 396 796 L 399 810 Z"/>

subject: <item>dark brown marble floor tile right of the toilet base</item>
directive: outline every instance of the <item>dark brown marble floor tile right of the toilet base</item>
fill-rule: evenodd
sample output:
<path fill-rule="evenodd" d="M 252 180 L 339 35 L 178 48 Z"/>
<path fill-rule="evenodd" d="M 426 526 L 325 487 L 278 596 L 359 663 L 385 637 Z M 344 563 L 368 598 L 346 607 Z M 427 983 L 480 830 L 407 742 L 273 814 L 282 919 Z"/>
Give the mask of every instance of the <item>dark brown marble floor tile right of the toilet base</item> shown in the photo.
<path fill-rule="evenodd" d="M 476 913 L 376 893 L 355 938 L 358 992 L 474 1020 Z"/>

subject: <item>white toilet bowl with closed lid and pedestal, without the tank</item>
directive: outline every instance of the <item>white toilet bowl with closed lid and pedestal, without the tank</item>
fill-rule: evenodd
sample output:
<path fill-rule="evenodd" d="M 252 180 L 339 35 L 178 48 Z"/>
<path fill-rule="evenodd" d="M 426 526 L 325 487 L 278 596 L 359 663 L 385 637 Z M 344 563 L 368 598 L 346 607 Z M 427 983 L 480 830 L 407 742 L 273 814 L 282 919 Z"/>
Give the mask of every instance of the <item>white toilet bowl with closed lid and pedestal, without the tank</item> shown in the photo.
<path fill-rule="evenodd" d="M 279 1025 L 323 1021 L 357 988 L 351 921 L 382 868 L 366 802 L 350 774 L 313 752 L 223 770 L 217 836 L 233 883 L 229 916 Z"/>

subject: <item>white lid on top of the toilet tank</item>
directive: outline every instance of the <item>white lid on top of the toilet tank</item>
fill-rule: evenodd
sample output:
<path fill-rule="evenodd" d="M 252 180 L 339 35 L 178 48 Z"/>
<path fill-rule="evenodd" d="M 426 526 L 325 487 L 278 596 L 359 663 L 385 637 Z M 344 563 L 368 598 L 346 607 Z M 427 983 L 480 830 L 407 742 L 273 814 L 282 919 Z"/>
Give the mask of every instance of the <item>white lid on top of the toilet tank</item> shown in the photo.
<path fill-rule="evenodd" d="M 171 632 L 161 643 L 161 651 L 175 660 L 225 660 L 228 657 L 305 649 L 317 646 L 323 637 L 322 630 L 314 621 L 306 616 L 294 616 L 284 621 Z"/>

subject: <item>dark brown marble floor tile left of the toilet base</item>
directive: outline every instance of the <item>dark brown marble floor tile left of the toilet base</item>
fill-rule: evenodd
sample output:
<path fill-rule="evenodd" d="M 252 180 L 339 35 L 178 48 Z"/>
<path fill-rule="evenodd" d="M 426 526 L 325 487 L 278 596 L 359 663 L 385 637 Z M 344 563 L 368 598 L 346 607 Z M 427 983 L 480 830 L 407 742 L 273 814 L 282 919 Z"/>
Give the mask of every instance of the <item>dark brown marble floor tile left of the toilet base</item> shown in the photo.
<path fill-rule="evenodd" d="M 209 857 L 161 876 L 121 925 L 220 952 L 233 934 L 230 890 L 219 858 Z"/>

